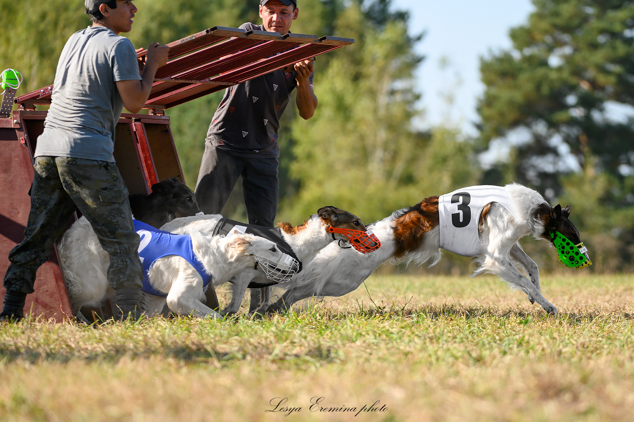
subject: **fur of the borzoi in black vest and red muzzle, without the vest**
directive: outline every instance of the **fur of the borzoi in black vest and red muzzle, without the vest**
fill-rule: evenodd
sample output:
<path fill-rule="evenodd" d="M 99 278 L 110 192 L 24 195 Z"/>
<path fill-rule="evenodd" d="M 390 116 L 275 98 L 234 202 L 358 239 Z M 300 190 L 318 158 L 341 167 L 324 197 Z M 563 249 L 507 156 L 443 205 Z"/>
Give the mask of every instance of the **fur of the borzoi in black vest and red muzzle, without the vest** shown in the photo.
<path fill-rule="evenodd" d="M 212 234 L 216 224 L 222 218 L 222 215 L 219 214 L 183 217 L 168 222 L 161 227 L 161 230 L 175 234 L 189 234 L 192 231 Z M 280 223 L 284 240 L 292 248 L 297 259 L 304 265 L 310 262 L 321 248 L 333 240 L 346 240 L 346 237 L 342 234 L 328 233 L 328 226 L 365 231 L 365 226 L 358 217 L 336 207 L 320 208 L 317 211 L 317 215 L 313 215 L 299 226 L 293 227 L 288 223 Z M 245 269 L 231 279 L 231 302 L 224 308 L 223 314 L 235 314 L 238 312 L 247 286 L 254 281 L 266 284 L 267 279 L 260 270 L 255 269 Z M 214 280 L 214 285 L 219 284 L 221 283 Z M 270 305 L 271 288 L 265 287 L 261 291 L 261 304 L 255 312 L 263 314 Z"/>

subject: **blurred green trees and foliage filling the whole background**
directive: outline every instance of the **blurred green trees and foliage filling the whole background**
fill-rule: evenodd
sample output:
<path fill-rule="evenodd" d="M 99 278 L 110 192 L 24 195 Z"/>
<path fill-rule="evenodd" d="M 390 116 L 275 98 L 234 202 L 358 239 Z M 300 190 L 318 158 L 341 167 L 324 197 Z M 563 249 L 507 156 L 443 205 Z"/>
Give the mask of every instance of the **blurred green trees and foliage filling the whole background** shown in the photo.
<path fill-rule="evenodd" d="M 261 22 L 255 0 L 136 0 L 137 47 L 169 42 L 214 25 Z M 294 32 L 352 37 L 353 46 L 318 57 L 320 105 L 310 120 L 294 106 L 280 132 L 278 219 L 302 222 L 337 205 L 371 222 L 426 196 L 461 186 L 518 181 L 552 203 L 573 205 L 573 221 L 593 253 L 590 271 L 629 271 L 634 253 L 634 121 L 611 118 L 634 105 L 634 5 L 616 0 L 534 0 L 534 13 L 510 30 L 507 51 L 482 58 L 486 91 L 480 136 L 455 127 L 422 132 L 413 75 L 422 36 L 389 0 L 302 0 Z M 0 66 L 21 70 L 18 94 L 53 81 L 70 34 L 89 25 L 72 0 L 0 0 Z M 204 138 L 222 93 L 176 106 L 172 132 L 193 187 Z M 44 108 L 45 109 L 45 108 Z M 510 145 L 489 168 L 478 153 Z M 246 219 L 239 183 L 223 214 Z M 586 241 L 587 240 L 587 241 Z M 560 265 L 543 242 L 526 249 L 545 271 Z M 451 255 L 451 254 L 448 254 Z M 467 272 L 444 259 L 434 271 Z"/>

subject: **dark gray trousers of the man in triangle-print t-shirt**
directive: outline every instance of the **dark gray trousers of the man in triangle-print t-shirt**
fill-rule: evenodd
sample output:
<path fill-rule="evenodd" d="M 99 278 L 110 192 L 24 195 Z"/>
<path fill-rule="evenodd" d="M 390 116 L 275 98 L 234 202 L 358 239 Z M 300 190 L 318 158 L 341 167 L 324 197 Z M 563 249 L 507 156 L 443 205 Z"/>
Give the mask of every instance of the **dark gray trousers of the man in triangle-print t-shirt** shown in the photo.
<path fill-rule="evenodd" d="M 221 214 L 240 176 L 249 224 L 275 226 L 280 197 L 277 158 L 235 157 L 205 143 L 196 183 L 200 209 Z"/>

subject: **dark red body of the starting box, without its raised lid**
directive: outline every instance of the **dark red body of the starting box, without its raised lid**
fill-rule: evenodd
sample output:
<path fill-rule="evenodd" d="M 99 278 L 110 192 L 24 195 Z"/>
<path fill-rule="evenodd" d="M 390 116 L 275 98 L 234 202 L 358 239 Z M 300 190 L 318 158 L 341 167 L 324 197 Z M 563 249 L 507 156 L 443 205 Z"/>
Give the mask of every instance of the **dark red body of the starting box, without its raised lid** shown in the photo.
<path fill-rule="evenodd" d="M 9 266 L 8 254 L 24 238 L 29 218 L 33 181 L 33 151 L 44 130 L 46 112 L 16 110 L 11 118 L 0 118 L 0 273 Z M 114 156 L 121 176 L 131 194 L 151 192 L 152 184 L 178 177 L 183 172 L 178 161 L 169 117 L 122 114 L 117 124 Z M 68 223 L 79 217 L 75 212 Z M 25 312 L 61 322 L 72 316 L 57 250 L 37 271 L 35 293 L 27 295 Z M 4 288 L 0 287 L 4 295 Z M 93 309 L 100 314 L 101 309 Z M 82 312 L 84 313 L 84 312 Z M 85 312 L 88 317 L 91 312 Z M 107 309 L 101 317 L 108 317 Z"/>

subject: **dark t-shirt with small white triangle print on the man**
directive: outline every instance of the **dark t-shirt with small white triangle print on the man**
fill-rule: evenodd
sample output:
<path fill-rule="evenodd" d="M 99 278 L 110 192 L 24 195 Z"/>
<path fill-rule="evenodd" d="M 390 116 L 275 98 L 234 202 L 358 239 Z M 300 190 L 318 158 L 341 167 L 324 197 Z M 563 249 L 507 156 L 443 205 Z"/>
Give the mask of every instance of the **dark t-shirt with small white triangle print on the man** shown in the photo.
<path fill-rule="evenodd" d="M 240 28 L 264 30 L 253 23 L 243 23 Z M 207 131 L 207 144 L 238 157 L 280 157 L 280 118 L 297 87 L 296 75 L 291 70 L 287 78 L 279 69 L 225 89 L 212 117 L 215 123 Z M 313 76 L 309 77 L 311 84 Z"/>

